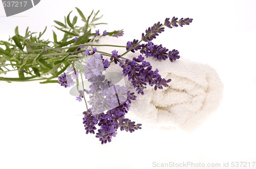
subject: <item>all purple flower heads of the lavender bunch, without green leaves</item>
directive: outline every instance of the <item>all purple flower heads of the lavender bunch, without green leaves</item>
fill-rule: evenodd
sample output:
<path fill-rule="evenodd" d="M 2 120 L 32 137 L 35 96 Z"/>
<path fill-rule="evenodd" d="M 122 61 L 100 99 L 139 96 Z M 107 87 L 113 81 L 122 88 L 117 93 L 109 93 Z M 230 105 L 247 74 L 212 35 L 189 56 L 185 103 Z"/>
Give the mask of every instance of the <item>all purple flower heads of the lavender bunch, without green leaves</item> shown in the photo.
<path fill-rule="evenodd" d="M 168 87 L 171 79 L 162 78 L 159 70 L 153 70 L 152 65 L 150 62 L 145 61 L 145 58 L 153 57 L 157 60 L 168 59 L 170 62 L 179 59 L 178 50 L 169 50 L 163 47 L 162 44 L 154 44 L 152 40 L 164 32 L 164 26 L 172 29 L 179 25 L 181 27 L 183 25 L 189 25 L 192 21 L 193 19 L 191 18 L 181 18 L 178 20 L 178 18 L 173 17 L 171 20 L 170 18 L 166 18 L 164 23 L 155 23 L 153 26 L 148 27 L 145 33 L 142 33 L 140 41 L 136 39 L 128 41 L 126 43 L 126 52 L 122 55 L 119 55 L 117 50 L 113 50 L 112 54 L 106 54 L 110 57 L 111 62 L 108 59 L 103 59 L 103 56 L 97 53 L 97 49 L 94 47 L 91 50 L 87 49 L 84 51 L 84 54 L 87 55 L 86 57 L 89 58 L 84 65 L 84 76 L 90 83 L 90 89 L 78 91 L 79 96 L 76 97 L 76 100 L 81 101 L 84 98 L 84 93 L 88 94 L 90 98 L 86 102 L 91 107 L 83 112 L 83 124 L 86 134 L 95 134 L 101 144 L 106 144 L 112 141 L 119 128 L 121 131 L 125 130 L 129 132 L 141 129 L 141 124 L 136 124 L 130 119 L 125 118 L 132 100 L 136 100 L 135 93 L 127 91 L 124 86 L 113 85 L 111 81 L 105 79 L 103 72 L 110 67 L 110 63 L 119 64 L 122 68 L 122 75 L 127 76 L 136 92 L 142 95 L 144 95 L 143 90 L 146 89 L 147 85 L 154 87 L 154 90 Z M 95 34 L 92 35 L 100 36 L 99 30 L 96 30 Z M 102 36 L 106 35 L 119 37 L 123 35 L 123 30 L 112 33 L 103 31 Z M 75 37 L 74 41 L 78 41 L 78 37 Z M 140 44 L 142 41 L 144 43 Z M 76 51 L 80 51 L 81 48 L 84 48 L 84 46 L 78 47 Z M 129 51 L 140 51 L 140 54 L 132 60 L 123 58 L 123 55 Z M 65 88 L 73 86 L 75 84 L 73 79 L 78 80 L 77 73 L 81 72 L 76 71 L 75 68 L 68 68 L 67 73 L 63 73 L 58 77 L 59 84 Z M 84 100 L 86 99 L 84 98 Z"/>

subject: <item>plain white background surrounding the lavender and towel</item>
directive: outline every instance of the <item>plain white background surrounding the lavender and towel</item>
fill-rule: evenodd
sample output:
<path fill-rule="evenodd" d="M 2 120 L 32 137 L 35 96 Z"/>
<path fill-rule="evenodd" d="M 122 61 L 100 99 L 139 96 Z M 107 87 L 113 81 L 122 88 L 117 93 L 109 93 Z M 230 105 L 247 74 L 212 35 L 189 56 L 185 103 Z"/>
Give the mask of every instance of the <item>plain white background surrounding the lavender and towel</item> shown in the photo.
<path fill-rule="evenodd" d="M 167 3 L 168 2 L 168 3 Z M 167 3 L 167 4 L 166 4 Z M 224 84 L 220 107 L 196 131 L 143 128 L 118 132 L 101 145 L 86 135 L 82 103 L 56 84 L 0 82 L 0 168 L 156 168 L 152 163 L 256 161 L 256 1 L 46 1 L 6 17 L 0 5 L 0 39 L 29 26 L 52 39 L 53 20 L 100 10 L 103 30 L 124 29 L 139 39 L 146 27 L 166 17 L 193 23 L 166 29 L 156 40 L 182 57 L 216 69 Z M 248 165 L 247 165 L 248 166 Z M 255 166 L 256 167 L 256 164 Z M 181 167 L 180 167 L 181 168 Z M 223 167 L 222 167 L 223 168 Z M 249 168 L 249 167 L 247 167 Z"/>

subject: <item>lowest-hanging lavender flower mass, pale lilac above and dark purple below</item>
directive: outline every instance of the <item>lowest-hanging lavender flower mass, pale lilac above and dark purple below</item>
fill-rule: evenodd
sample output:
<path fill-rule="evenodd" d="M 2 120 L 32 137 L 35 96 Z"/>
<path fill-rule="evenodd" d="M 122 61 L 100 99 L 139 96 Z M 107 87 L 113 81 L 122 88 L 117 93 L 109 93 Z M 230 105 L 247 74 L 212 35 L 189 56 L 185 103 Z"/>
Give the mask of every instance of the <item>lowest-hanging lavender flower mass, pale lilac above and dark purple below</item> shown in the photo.
<path fill-rule="evenodd" d="M 117 51 L 112 52 L 113 58 L 118 57 Z M 112 58 L 112 59 L 113 59 Z M 125 87 L 119 85 L 111 85 L 111 82 L 102 75 L 106 60 L 102 60 L 102 56 L 96 53 L 91 57 L 84 66 L 85 76 L 90 85 L 91 105 L 87 111 L 84 111 L 83 124 L 86 133 L 95 133 L 96 125 L 100 126 L 96 137 L 99 138 L 101 144 L 111 142 L 112 137 L 117 134 L 120 126 L 121 130 L 133 132 L 141 129 L 141 124 L 136 124 L 129 119 L 124 118 L 130 108 L 131 100 L 135 100 L 136 96 L 130 91 L 126 91 Z M 105 65 L 104 65 L 105 64 Z"/>

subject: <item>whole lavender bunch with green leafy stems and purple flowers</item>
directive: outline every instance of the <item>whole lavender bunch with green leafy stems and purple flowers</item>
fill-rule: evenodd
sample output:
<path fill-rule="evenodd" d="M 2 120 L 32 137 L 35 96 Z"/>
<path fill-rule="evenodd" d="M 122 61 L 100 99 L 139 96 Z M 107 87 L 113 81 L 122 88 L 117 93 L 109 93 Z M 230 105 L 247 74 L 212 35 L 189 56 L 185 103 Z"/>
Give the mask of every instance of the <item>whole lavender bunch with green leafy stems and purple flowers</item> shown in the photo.
<path fill-rule="evenodd" d="M 92 11 L 85 17 L 78 8 L 76 10 L 85 24 L 78 26 L 78 17 L 74 16 L 71 20 L 71 12 L 65 17 L 64 23 L 55 20 L 57 26 L 54 27 L 63 33 L 60 40 L 54 31 L 53 41 L 41 39 L 47 28 L 39 35 L 27 29 L 22 36 L 16 27 L 15 35 L 9 41 L 0 41 L 0 74 L 11 71 L 18 73 L 18 77 L 0 77 L 0 80 L 41 80 L 40 83 L 59 83 L 65 88 L 74 86 L 76 100 L 85 103 L 83 124 L 86 134 L 95 134 L 101 144 L 105 144 L 111 142 L 118 129 L 130 132 L 141 129 L 141 124 L 125 118 L 132 101 L 136 100 L 137 94 L 144 95 L 143 90 L 147 86 L 161 90 L 168 87 L 171 81 L 162 78 L 158 69 L 153 70 L 146 58 L 170 62 L 180 58 L 178 50 L 168 50 L 161 44 L 154 44 L 153 40 L 164 32 L 165 27 L 182 27 L 189 25 L 193 19 L 166 18 L 163 23 L 157 22 L 148 27 L 139 40 L 134 39 L 128 41 L 126 46 L 118 46 L 94 42 L 102 36 L 123 36 L 123 30 L 100 32 L 95 27 L 105 23 L 97 22 L 102 17 L 98 17 L 99 11 Z M 108 53 L 97 50 L 97 46 L 112 46 L 116 50 Z M 126 51 L 118 53 L 118 48 L 126 48 Z M 128 52 L 135 51 L 140 51 L 137 57 L 125 57 Z M 137 93 L 106 78 L 104 72 L 113 64 L 120 66 L 122 76 L 127 76 Z"/>

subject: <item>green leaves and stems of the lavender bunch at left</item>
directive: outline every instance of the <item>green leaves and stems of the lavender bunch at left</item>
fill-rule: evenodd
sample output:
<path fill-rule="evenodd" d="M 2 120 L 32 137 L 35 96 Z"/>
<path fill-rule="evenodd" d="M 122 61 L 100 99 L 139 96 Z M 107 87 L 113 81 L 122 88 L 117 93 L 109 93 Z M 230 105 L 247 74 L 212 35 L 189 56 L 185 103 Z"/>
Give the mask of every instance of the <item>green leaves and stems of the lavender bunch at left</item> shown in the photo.
<path fill-rule="evenodd" d="M 0 41 L 0 76 L 16 71 L 18 77 L 0 77 L 0 80 L 10 82 L 44 79 L 46 81 L 41 83 L 58 82 L 54 78 L 73 62 L 84 57 L 83 54 L 78 55 L 84 50 L 77 51 L 77 48 L 90 46 L 87 43 L 95 40 L 96 35 L 91 33 L 91 28 L 106 24 L 96 23 L 102 17 L 97 16 L 99 11 L 92 11 L 86 18 L 81 10 L 76 10 L 84 25 L 77 25 L 77 16 L 71 21 L 71 11 L 64 22 L 54 20 L 56 31 L 62 32 L 63 37 L 57 37 L 57 32 L 53 31 L 53 41 L 42 39 L 47 27 L 39 34 L 30 32 L 27 27 L 25 35 L 20 35 L 16 26 L 15 35 L 9 41 Z M 77 41 L 74 40 L 75 37 L 78 37 Z"/>

